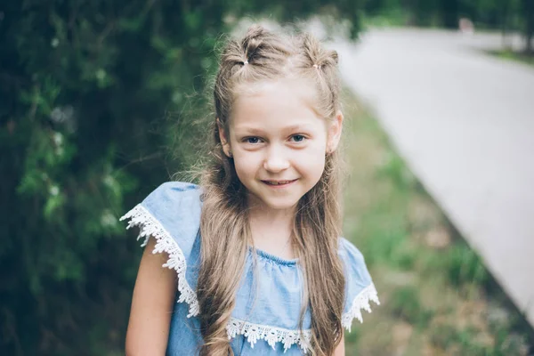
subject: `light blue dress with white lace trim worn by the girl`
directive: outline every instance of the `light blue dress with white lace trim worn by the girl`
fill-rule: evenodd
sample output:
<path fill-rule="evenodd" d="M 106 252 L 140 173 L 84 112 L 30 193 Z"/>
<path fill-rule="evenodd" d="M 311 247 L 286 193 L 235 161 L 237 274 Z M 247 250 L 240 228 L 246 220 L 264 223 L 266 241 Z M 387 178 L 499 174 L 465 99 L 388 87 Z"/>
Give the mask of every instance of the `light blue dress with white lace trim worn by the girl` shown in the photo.
<path fill-rule="evenodd" d="M 127 228 L 138 226 L 138 239 L 146 245 L 156 239 L 154 254 L 166 252 L 163 265 L 178 275 L 177 303 L 171 320 L 167 355 L 195 355 L 202 344 L 198 300 L 195 293 L 200 255 L 199 187 L 186 182 L 166 182 L 125 214 Z M 379 304 L 376 288 L 360 251 L 341 238 L 339 255 L 344 263 L 346 286 L 342 324 L 349 331 L 353 319 L 362 321 L 361 310 L 371 312 L 369 302 Z M 226 330 L 236 355 L 301 355 L 311 339 L 311 315 L 305 313 L 298 329 L 303 274 L 297 260 L 286 260 L 256 250 L 256 283 L 252 249 Z"/>

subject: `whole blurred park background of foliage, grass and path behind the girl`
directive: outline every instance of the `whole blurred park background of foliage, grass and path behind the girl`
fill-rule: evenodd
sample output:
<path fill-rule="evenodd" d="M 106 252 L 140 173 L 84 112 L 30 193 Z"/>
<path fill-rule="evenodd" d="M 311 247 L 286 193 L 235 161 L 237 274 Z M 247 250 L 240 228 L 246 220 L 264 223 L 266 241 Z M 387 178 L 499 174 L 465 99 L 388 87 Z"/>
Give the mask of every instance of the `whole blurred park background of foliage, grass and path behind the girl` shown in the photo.
<path fill-rule="evenodd" d="M 223 34 L 258 19 L 341 56 L 382 302 L 347 354 L 534 354 L 534 0 L 2 2 L 0 354 L 124 354 L 118 218 L 196 163 Z"/>

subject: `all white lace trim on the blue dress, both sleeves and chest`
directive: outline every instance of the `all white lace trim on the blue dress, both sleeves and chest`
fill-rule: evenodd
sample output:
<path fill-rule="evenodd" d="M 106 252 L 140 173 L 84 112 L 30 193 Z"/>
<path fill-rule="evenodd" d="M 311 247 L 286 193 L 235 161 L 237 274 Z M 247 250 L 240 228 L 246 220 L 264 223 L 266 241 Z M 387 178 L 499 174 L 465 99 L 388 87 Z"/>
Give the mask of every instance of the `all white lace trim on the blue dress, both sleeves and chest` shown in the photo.
<path fill-rule="evenodd" d="M 198 315 L 198 299 L 195 291 L 190 287 L 187 279 L 185 279 L 185 271 L 187 270 L 187 263 L 182 249 L 178 246 L 171 234 L 158 222 L 158 220 L 150 214 L 141 204 L 135 206 L 132 210 L 120 218 L 120 221 L 128 219 L 126 229 L 134 226 L 140 228 L 137 239 L 145 238 L 142 247 L 146 246 L 150 236 L 156 239 L 156 246 L 152 254 L 160 254 L 166 252 L 169 259 L 163 264 L 163 267 L 173 269 L 178 275 L 178 291 L 180 297 L 178 303 L 189 304 L 188 318 Z M 361 317 L 361 310 L 367 312 L 371 311 L 369 301 L 373 301 L 376 305 L 380 305 L 376 287 L 374 284 L 365 287 L 352 301 L 352 306 L 349 312 L 344 312 L 341 319 L 341 324 L 344 328 L 351 331 L 352 320 L 358 319 L 363 322 Z M 258 340 L 265 340 L 273 349 L 276 343 L 284 344 L 284 352 L 287 351 L 293 344 L 298 344 L 299 347 L 306 352 L 312 340 L 312 330 L 304 329 L 302 333 L 299 330 L 287 328 L 275 328 L 266 325 L 253 324 L 245 320 L 239 320 L 231 317 L 226 326 L 228 338 L 243 335 L 247 337 L 250 346 L 254 348 Z"/>

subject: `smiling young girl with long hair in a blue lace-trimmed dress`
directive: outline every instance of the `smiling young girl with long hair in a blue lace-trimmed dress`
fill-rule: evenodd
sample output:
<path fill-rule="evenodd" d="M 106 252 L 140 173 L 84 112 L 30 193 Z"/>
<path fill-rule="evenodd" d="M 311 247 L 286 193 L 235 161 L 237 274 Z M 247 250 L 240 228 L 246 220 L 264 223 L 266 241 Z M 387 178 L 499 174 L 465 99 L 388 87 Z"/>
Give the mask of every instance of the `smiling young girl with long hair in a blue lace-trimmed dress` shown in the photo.
<path fill-rule="evenodd" d="M 339 86 L 310 35 L 254 26 L 227 44 L 200 185 L 166 182 L 121 219 L 147 246 L 127 355 L 344 354 L 378 298 L 340 238 Z"/>

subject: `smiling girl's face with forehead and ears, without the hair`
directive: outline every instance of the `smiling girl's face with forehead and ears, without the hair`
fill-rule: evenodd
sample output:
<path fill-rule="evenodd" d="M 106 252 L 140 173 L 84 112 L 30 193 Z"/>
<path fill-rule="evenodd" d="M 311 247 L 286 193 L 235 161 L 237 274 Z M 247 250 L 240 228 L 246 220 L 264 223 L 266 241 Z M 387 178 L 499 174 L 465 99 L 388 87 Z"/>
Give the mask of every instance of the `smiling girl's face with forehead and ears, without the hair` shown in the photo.
<path fill-rule="evenodd" d="M 293 79 L 254 85 L 235 101 L 229 137 L 220 130 L 221 142 L 253 204 L 291 209 L 319 182 L 343 114 L 319 117 L 314 100 L 313 85 Z"/>

